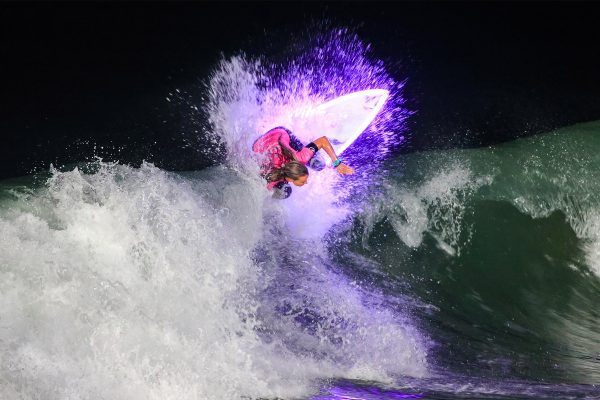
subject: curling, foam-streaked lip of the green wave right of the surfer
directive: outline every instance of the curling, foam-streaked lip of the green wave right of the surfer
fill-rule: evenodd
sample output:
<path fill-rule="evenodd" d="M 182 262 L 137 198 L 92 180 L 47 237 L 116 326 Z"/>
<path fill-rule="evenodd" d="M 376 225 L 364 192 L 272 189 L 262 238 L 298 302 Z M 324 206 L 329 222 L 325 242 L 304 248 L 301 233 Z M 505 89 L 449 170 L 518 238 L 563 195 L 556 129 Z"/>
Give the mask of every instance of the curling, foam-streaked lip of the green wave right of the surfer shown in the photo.
<path fill-rule="evenodd" d="M 409 163 L 394 171 L 408 178 L 387 182 L 385 199 L 362 218 L 367 227 L 387 218 L 409 247 L 419 247 L 430 235 L 452 256 L 471 235 L 463 218 L 467 200 L 486 187 L 478 196 L 507 201 L 533 218 L 563 213 L 581 240 L 583 263 L 600 277 L 599 131 L 598 122 L 590 122 L 491 149 L 403 156 Z M 426 161 L 419 164 L 419 157 Z"/>

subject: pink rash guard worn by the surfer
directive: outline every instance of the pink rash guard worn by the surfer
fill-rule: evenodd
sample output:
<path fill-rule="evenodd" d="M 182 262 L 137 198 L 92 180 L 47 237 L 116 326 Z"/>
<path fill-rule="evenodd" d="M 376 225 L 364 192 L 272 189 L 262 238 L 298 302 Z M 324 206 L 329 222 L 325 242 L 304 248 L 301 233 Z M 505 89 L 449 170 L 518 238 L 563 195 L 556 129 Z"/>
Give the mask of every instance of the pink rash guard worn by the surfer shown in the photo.
<path fill-rule="evenodd" d="M 261 166 L 261 175 L 266 176 L 271 170 L 274 168 L 281 168 L 282 165 L 292 161 L 288 159 L 283 152 L 281 151 L 281 145 L 279 142 L 286 146 L 292 154 L 296 157 L 296 161 L 301 162 L 303 164 L 307 164 L 312 156 L 316 152 L 316 146 L 314 144 L 309 144 L 305 146 L 300 151 L 294 150 L 290 146 L 290 135 L 288 131 L 284 128 L 274 128 L 256 139 L 254 144 L 252 145 L 252 150 L 255 153 L 265 154 L 268 158 L 267 162 Z M 273 186 L 278 184 L 281 181 L 277 182 L 269 182 L 267 183 L 267 188 L 269 190 L 273 189 Z"/>

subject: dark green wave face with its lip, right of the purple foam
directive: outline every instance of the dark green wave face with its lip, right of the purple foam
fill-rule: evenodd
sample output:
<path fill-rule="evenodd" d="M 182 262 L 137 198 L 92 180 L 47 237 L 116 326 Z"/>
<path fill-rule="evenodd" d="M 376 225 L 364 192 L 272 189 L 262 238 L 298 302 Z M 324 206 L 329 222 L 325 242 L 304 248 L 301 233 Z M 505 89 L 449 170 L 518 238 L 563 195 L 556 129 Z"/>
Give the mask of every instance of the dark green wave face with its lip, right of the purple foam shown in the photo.
<path fill-rule="evenodd" d="M 389 160 L 348 246 L 376 260 L 385 286 L 408 285 L 431 306 L 422 320 L 437 342 L 432 364 L 600 381 L 599 151 L 592 122 Z"/>

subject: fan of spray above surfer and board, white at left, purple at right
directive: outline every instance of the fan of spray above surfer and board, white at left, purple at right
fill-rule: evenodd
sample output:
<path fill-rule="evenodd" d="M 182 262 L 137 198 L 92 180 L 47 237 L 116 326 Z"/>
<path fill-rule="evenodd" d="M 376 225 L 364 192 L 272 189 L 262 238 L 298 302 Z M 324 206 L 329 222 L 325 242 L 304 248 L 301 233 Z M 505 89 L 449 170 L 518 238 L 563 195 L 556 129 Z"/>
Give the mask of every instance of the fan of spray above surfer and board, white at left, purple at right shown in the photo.
<path fill-rule="evenodd" d="M 303 116 L 324 102 L 373 88 L 387 90 L 389 99 L 346 156 L 361 167 L 383 160 L 404 140 L 411 114 L 404 106 L 404 82 L 396 82 L 370 46 L 347 30 L 308 37 L 297 46 L 278 63 L 244 55 L 223 59 L 212 74 L 205 107 L 228 162 L 244 163 L 251 143 L 268 129 L 283 125 L 295 132 Z M 319 132 L 298 134 L 310 141 Z"/>

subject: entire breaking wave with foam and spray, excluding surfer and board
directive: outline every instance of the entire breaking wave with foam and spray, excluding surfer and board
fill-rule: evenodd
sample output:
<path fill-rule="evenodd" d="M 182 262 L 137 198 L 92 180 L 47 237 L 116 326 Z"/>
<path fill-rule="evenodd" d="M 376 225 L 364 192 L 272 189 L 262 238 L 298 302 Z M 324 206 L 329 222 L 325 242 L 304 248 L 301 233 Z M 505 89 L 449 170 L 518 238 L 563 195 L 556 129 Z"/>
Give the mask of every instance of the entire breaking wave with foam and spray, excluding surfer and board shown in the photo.
<path fill-rule="evenodd" d="M 399 154 L 405 81 L 315 40 L 168 93 L 215 166 L 0 182 L 2 399 L 600 398 L 600 121 Z M 271 199 L 252 141 L 374 87 L 356 174 Z"/>

